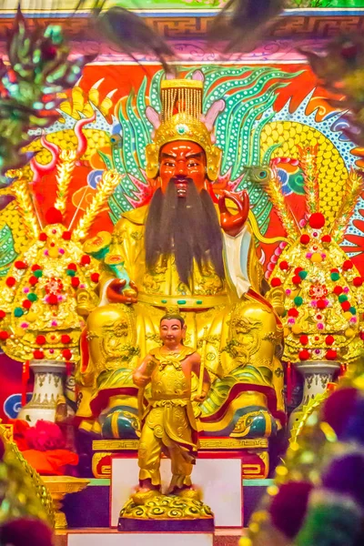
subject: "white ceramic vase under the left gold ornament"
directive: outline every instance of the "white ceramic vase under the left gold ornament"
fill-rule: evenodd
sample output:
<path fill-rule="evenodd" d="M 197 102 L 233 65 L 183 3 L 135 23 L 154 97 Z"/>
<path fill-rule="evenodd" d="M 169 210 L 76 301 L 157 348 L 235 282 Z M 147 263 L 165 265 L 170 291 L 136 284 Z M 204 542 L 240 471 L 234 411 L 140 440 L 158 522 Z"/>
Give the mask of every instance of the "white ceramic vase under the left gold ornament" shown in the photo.
<path fill-rule="evenodd" d="M 32 399 L 22 408 L 17 419 L 35 425 L 37 420 L 55 421 L 56 401 L 64 395 L 66 364 L 58 360 L 31 360 L 35 374 Z"/>

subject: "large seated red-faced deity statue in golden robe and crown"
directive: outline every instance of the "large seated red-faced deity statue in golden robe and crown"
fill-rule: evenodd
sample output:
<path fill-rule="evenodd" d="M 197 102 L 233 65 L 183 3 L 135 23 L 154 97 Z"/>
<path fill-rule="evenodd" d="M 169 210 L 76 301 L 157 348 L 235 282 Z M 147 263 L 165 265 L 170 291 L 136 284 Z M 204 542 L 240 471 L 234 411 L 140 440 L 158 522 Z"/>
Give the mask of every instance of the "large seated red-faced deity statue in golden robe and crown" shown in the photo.
<path fill-rule="evenodd" d="M 79 295 L 88 316 L 76 418 L 103 438 L 140 433 L 133 373 L 160 347 L 160 319 L 170 308 L 185 321 L 187 346 L 206 351 L 211 389 L 197 408 L 202 434 L 268 438 L 285 420 L 282 326 L 261 293 L 247 192 L 214 193 L 222 152 L 201 121 L 202 86 L 162 82 L 162 114 L 146 150 L 153 196 L 123 213 L 112 235 L 85 243 L 103 273 L 96 308 Z M 194 396 L 197 384 L 191 389 Z"/>

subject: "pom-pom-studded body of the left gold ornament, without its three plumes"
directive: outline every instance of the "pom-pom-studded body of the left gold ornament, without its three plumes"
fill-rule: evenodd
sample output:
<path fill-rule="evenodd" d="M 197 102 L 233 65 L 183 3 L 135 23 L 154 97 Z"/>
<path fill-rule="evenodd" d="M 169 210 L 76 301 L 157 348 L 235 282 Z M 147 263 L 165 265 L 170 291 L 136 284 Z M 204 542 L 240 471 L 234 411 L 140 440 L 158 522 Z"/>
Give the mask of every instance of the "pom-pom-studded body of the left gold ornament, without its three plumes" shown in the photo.
<path fill-rule="evenodd" d="M 2 288 L 2 349 L 22 361 L 77 360 L 77 292 L 87 290 L 96 306 L 98 262 L 61 224 L 46 226 L 19 258 Z"/>

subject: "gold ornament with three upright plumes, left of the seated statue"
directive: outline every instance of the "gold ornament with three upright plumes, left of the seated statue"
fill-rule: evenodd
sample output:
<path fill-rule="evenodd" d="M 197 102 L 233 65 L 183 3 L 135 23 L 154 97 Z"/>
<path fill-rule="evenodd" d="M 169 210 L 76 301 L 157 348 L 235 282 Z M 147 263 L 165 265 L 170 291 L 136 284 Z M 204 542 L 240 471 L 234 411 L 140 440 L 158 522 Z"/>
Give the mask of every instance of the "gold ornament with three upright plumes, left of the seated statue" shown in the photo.
<path fill-rule="evenodd" d="M 23 172 L 10 173 L 17 177 L 13 194 L 29 237 L 0 291 L 0 344 L 16 360 L 77 361 L 83 317 L 98 302 L 99 262 L 85 254 L 82 241 L 120 177 L 115 171 L 104 173 L 99 191 L 72 231 L 73 222 L 63 225 L 63 213 L 76 157 L 71 151 L 59 154 L 56 207 L 45 213 L 45 227 L 38 222 Z M 80 308 L 85 312 L 78 314 Z"/>

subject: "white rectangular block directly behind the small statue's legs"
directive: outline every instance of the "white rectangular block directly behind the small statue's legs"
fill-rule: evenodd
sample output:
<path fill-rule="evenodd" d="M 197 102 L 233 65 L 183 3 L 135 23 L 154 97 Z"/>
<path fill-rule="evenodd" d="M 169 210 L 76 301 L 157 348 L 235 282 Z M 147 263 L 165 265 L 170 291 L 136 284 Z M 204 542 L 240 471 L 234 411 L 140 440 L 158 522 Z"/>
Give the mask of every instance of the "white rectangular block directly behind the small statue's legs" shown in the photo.
<path fill-rule="evenodd" d="M 161 461 L 163 486 L 170 481 L 170 460 Z M 137 459 L 113 458 L 111 463 L 111 527 L 117 527 L 120 510 L 135 490 L 138 476 Z M 243 526 L 243 489 L 240 459 L 199 458 L 192 480 L 201 488 L 203 501 L 215 515 L 215 527 Z M 162 543 L 160 543 L 162 546 Z M 164 544 L 164 543 L 163 543 Z M 88 545 L 90 546 L 90 545 Z M 133 544 L 136 546 L 136 544 Z M 174 546 L 177 546 L 174 541 Z"/>

